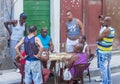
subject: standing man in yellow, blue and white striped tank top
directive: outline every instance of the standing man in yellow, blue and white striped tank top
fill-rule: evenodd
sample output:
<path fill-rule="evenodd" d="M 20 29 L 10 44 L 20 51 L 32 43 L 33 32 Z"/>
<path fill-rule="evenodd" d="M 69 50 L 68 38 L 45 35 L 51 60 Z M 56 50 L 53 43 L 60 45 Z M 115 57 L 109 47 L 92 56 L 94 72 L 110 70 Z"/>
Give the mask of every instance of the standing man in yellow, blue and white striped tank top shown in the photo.
<path fill-rule="evenodd" d="M 111 27 L 111 17 L 104 18 L 105 30 L 99 34 L 97 55 L 99 57 L 99 69 L 102 75 L 102 84 L 112 84 L 110 60 L 115 30 Z"/>

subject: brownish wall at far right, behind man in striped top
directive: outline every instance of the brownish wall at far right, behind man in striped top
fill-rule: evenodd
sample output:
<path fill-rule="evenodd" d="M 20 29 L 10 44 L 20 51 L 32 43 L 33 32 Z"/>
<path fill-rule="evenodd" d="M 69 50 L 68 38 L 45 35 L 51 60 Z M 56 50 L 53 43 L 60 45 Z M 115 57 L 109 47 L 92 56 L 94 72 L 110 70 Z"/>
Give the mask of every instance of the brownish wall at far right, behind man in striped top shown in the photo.
<path fill-rule="evenodd" d="M 105 14 L 112 17 L 112 26 L 116 32 L 113 48 L 120 49 L 120 0 L 106 0 Z"/>

